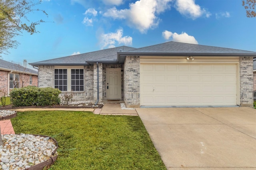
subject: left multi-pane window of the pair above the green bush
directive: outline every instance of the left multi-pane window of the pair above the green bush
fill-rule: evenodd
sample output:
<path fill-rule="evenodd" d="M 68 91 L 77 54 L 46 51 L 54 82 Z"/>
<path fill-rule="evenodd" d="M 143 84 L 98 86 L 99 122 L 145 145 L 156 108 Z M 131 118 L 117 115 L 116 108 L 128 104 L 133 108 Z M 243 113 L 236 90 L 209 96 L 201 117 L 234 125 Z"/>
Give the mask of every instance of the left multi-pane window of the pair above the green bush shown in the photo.
<path fill-rule="evenodd" d="M 60 89 L 60 91 L 68 91 L 67 69 L 54 70 L 54 88 Z"/>

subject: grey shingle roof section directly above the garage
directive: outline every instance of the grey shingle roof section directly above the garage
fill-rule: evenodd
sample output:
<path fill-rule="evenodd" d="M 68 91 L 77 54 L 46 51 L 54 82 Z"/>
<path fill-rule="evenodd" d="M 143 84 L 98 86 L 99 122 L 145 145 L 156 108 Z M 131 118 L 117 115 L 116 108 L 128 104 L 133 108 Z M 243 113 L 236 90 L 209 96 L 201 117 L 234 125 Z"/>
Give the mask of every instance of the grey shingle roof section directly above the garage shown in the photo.
<path fill-rule="evenodd" d="M 126 53 L 126 52 L 124 52 Z M 190 43 L 180 43 L 180 42 L 166 42 L 156 45 L 151 45 L 147 47 L 137 48 L 128 51 L 128 53 L 180 53 L 180 54 L 216 54 L 216 55 L 233 55 L 233 54 L 245 54 L 245 55 L 255 55 L 256 52 L 244 51 L 240 49 L 231 49 L 223 47 L 213 47 L 207 45 L 197 45 Z"/>

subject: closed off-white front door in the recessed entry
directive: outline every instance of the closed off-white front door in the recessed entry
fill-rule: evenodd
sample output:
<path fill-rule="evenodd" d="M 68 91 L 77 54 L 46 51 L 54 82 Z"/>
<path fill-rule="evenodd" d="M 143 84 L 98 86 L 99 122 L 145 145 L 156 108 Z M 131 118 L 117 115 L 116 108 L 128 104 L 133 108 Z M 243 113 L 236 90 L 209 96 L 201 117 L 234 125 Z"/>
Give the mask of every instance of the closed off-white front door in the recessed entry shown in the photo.
<path fill-rule="evenodd" d="M 121 69 L 107 69 L 107 99 L 121 99 Z"/>

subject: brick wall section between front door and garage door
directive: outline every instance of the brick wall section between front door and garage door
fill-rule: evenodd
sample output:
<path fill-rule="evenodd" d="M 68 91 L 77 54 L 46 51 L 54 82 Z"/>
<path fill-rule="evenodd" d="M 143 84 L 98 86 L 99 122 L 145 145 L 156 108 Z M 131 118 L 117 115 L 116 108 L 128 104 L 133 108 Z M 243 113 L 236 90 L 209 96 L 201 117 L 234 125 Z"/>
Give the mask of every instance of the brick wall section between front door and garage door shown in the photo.
<path fill-rule="evenodd" d="M 126 56 L 124 61 L 124 103 L 126 107 L 140 105 L 140 57 Z"/>

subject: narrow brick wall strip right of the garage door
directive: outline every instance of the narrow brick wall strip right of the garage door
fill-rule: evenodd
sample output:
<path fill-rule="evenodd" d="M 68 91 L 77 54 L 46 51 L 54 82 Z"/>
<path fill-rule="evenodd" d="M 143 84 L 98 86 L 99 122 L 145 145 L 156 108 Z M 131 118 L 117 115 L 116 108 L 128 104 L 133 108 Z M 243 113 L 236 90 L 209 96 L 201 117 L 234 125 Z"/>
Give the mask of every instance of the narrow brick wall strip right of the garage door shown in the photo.
<path fill-rule="evenodd" d="M 253 57 L 240 57 L 240 105 L 253 107 Z"/>

